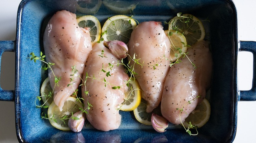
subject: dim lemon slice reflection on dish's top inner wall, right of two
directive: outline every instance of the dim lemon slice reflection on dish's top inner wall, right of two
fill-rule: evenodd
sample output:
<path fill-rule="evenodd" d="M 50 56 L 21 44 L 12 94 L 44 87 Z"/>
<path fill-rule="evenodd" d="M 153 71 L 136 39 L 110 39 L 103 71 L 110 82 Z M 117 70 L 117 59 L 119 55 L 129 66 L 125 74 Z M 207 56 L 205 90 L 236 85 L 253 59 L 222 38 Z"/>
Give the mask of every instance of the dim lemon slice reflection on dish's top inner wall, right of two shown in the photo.
<path fill-rule="evenodd" d="M 135 3 L 124 0 L 104 0 L 103 4 L 110 11 L 113 11 L 117 14 L 130 14 L 133 13 L 133 10 L 136 8 Z"/>

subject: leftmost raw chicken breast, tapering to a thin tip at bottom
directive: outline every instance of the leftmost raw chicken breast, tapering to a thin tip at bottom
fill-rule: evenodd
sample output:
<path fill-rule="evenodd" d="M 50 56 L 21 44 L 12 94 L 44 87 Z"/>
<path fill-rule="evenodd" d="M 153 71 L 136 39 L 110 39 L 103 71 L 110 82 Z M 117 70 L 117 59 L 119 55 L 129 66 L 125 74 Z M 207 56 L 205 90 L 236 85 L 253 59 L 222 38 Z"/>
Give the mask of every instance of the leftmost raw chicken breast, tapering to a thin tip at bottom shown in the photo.
<path fill-rule="evenodd" d="M 61 77 L 59 86 L 55 86 L 53 100 L 62 111 L 64 102 L 74 92 L 72 86 L 67 86 L 71 84 L 70 75 L 73 74 L 71 66 L 76 66 L 78 70 L 75 77 L 82 76 L 87 56 L 92 50 L 89 29 L 79 28 L 74 13 L 66 10 L 57 11 L 47 24 L 43 45 L 46 61 L 55 63 L 52 66 L 53 72 L 49 69 L 52 88 L 55 85 L 53 73 L 56 77 Z M 80 78 L 74 79 L 75 89 L 80 81 Z"/>

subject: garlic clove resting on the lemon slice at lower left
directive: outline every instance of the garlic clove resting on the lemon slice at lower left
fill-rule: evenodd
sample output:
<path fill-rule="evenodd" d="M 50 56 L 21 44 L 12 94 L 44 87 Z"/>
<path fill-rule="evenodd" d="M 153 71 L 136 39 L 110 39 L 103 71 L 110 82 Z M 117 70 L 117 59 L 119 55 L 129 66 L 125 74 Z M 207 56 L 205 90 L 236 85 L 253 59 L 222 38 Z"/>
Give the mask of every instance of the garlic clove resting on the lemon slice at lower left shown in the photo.
<path fill-rule="evenodd" d="M 68 126 L 73 132 L 80 132 L 84 126 L 85 121 L 85 115 L 82 111 L 78 111 L 75 114 L 73 114 L 73 117 L 77 117 L 78 120 L 69 119 Z"/>

